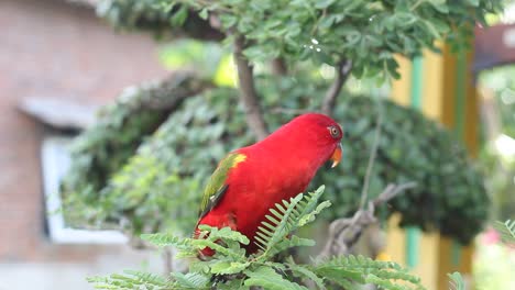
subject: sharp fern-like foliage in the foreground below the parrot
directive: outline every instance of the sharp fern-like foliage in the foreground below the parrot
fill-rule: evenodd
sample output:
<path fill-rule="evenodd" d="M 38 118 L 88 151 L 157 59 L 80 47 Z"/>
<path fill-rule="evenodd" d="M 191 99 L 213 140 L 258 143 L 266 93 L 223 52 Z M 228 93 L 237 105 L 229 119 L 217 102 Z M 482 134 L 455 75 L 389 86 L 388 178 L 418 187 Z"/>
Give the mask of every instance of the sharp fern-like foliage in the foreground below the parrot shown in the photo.
<path fill-rule="evenodd" d="M 410 275 L 395 263 L 376 261 L 361 256 L 335 257 L 318 261 L 315 265 L 300 265 L 289 258 L 285 263 L 274 261 L 280 252 L 298 246 L 293 232 L 307 223 L 328 202 L 318 204 L 324 191 L 308 194 L 300 193 L 289 201 L 277 203 L 273 220 L 261 226 L 276 231 L 262 235 L 260 242 L 262 250 L 253 255 L 245 255 L 241 244 L 249 244 L 242 234 L 229 227 L 216 228 L 201 226 L 206 232 L 204 239 L 178 238 L 165 234 L 144 235 L 143 238 L 158 246 L 175 246 L 182 257 L 194 257 L 198 250 L 210 247 L 216 250 L 212 259 L 195 260 L 189 272 L 173 272 L 167 277 L 140 271 L 125 271 L 122 275 L 90 278 L 97 289 L 338 289 L 338 285 L 346 289 L 359 289 L 360 285 L 372 283 L 382 289 L 424 289 L 420 279 Z M 318 205 L 317 205 L 318 204 Z M 265 233 L 265 232 L 262 232 Z M 291 238 L 285 238 L 292 235 Z M 278 238 L 281 237 L 281 238 Z M 313 288 L 311 287 L 311 288 Z"/>

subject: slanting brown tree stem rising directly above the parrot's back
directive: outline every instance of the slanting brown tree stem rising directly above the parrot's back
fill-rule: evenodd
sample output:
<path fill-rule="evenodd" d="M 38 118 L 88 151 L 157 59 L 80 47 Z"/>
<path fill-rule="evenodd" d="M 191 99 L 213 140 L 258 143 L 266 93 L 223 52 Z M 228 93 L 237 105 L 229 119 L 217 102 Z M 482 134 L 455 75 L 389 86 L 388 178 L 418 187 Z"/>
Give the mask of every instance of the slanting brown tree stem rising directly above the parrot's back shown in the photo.
<path fill-rule="evenodd" d="M 238 36 L 234 41 L 234 59 L 238 68 L 238 79 L 241 90 L 241 100 L 245 110 L 246 122 L 258 140 L 269 135 L 266 124 L 258 102 L 258 92 L 254 87 L 252 66 L 243 55 L 244 38 Z"/>

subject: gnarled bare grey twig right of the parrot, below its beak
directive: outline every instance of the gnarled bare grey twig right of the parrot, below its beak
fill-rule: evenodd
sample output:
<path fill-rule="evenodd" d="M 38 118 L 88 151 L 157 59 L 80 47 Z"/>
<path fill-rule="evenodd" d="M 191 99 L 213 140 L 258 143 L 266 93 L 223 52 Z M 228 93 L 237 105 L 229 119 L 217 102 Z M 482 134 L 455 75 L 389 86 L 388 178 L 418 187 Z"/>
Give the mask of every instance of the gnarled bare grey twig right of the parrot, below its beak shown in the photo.
<path fill-rule="evenodd" d="M 369 225 L 376 222 L 374 216 L 375 208 L 414 187 L 416 187 L 416 182 L 399 186 L 390 183 L 377 198 L 369 202 L 366 210 L 358 210 L 352 217 L 335 220 L 329 225 L 327 243 L 318 258 L 349 254 L 352 246 L 360 238 L 361 233 Z"/>

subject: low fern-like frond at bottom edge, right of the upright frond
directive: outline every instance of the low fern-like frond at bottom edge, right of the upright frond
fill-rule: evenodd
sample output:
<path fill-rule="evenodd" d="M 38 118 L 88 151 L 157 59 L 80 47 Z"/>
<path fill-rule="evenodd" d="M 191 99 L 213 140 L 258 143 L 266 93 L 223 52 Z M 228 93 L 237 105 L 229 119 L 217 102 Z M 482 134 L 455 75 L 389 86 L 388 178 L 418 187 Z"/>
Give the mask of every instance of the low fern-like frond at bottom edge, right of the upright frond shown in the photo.
<path fill-rule="evenodd" d="M 424 289 L 420 278 L 398 264 L 363 256 L 335 257 L 314 266 L 313 271 L 346 288 L 349 287 L 349 281 L 353 281 L 360 285 L 373 283 L 383 289 Z"/>

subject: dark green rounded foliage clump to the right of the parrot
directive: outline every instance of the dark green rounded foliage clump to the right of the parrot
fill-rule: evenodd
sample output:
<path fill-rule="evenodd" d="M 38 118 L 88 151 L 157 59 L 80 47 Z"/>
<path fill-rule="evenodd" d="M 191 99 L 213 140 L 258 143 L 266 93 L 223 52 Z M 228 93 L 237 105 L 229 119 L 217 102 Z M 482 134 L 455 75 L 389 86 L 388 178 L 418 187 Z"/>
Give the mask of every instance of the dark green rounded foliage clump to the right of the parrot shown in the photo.
<path fill-rule="evenodd" d="M 487 219 L 490 200 L 481 174 L 459 141 L 418 111 L 390 101 L 349 98 L 336 109 L 335 115 L 339 115 L 338 112 L 341 112 L 340 122 L 347 127 L 343 153 L 348 155 L 344 155 L 347 159 L 340 175 L 343 178 L 324 176 L 324 182 L 341 185 L 341 194 L 335 198 L 335 203 L 357 204 L 352 192 L 361 189 L 366 170 L 362 160 L 370 154 L 376 115 L 382 113 L 384 122 L 370 194 L 377 196 L 390 182 L 416 181 L 416 188 L 391 202 L 393 210 L 403 215 L 401 225 L 439 230 L 462 243 L 471 241 Z M 360 178 L 349 178 L 350 170 Z M 320 181 L 316 179 L 314 182 Z M 342 207 L 339 214 L 344 215 L 353 209 Z"/>

